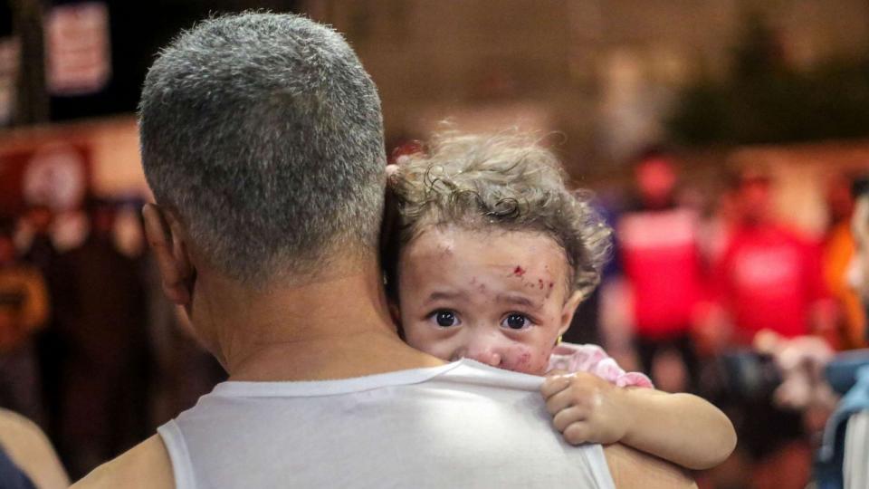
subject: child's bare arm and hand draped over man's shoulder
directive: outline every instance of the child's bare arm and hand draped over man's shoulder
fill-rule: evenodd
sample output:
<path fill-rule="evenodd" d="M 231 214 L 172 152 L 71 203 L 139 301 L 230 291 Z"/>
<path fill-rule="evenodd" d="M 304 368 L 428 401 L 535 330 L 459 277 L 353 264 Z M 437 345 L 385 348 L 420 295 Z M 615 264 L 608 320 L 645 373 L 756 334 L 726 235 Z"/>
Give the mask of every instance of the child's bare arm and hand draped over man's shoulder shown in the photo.
<path fill-rule="evenodd" d="M 689 469 L 721 464 L 736 446 L 730 419 L 691 394 L 618 388 L 587 372 L 550 376 L 541 392 L 571 445 L 620 442 Z"/>

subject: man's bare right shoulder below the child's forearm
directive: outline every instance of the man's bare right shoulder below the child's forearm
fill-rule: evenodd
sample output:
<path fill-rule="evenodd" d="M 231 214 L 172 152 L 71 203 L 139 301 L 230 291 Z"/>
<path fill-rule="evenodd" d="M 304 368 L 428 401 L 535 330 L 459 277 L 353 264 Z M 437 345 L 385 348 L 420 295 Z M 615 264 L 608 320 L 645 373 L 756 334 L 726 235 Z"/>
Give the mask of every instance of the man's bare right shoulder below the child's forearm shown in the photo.
<path fill-rule="evenodd" d="M 697 487 L 687 470 L 628 446 L 605 446 L 604 455 L 617 489 Z"/>

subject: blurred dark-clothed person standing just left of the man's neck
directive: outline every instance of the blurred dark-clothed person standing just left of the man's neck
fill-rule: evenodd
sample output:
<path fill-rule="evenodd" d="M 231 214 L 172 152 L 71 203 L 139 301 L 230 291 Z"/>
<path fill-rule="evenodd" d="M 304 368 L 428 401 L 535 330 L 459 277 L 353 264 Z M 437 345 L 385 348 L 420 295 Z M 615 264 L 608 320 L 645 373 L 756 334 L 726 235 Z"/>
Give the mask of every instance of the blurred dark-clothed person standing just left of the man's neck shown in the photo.
<path fill-rule="evenodd" d="M 62 335 L 58 449 L 72 477 L 148 430 L 149 342 L 141 265 L 114 241 L 115 208 L 87 201 L 91 231 L 55 271 Z"/>

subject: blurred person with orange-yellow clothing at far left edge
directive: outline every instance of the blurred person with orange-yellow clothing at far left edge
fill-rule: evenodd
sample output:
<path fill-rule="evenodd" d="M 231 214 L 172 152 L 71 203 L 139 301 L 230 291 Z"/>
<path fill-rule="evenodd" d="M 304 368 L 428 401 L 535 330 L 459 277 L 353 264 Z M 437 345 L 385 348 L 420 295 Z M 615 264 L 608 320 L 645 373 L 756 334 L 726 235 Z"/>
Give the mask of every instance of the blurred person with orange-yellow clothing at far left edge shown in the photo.
<path fill-rule="evenodd" d="M 11 225 L 0 224 L 0 407 L 42 418 L 33 334 L 48 317 L 40 273 L 19 261 Z"/>

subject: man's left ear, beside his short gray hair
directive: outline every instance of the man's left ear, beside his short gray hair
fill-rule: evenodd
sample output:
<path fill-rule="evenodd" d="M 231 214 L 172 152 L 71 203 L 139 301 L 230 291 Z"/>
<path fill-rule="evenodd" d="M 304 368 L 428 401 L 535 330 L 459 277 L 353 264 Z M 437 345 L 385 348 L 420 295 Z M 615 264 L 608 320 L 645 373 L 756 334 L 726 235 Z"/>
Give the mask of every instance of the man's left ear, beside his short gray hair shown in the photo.
<path fill-rule="evenodd" d="M 142 208 L 142 217 L 148 245 L 154 252 L 163 279 L 163 293 L 169 301 L 182 306 L 189 305 L 193 297 L 196 270 L 191 264 L 177 220 L 156 204 L 146 204 Z"/>

